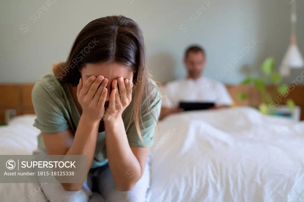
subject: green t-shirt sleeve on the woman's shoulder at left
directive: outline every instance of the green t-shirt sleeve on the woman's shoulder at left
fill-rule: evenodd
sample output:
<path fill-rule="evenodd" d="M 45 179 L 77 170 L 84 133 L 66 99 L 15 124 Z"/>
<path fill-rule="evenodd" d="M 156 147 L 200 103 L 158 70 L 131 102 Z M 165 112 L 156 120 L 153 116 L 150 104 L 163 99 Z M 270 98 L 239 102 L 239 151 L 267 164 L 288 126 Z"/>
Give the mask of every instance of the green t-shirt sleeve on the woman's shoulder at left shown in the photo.
<path fill-rule="evenodd" d="M 53 93 L 53 94 L 51 94 Z M 36 113 L 33 126 L 43 133 L 58 133 L 69 128 L 64 114 L 56 102 L 58 95 L 54 91 L 48 91 L 39 81 L 32 91 L 32 101 Z"/>

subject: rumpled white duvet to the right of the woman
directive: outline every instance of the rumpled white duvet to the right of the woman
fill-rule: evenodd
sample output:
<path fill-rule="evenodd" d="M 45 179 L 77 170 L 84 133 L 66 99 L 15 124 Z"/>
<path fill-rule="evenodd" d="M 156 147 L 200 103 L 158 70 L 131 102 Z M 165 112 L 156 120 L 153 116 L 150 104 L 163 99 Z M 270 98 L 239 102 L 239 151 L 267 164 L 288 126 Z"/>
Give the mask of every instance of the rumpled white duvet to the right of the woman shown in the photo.
<path fill-rule="evenodd" d="M 304 200 L 302 122 L 247 107 L 185 112 L 154 142 L 149 202 Z"/>

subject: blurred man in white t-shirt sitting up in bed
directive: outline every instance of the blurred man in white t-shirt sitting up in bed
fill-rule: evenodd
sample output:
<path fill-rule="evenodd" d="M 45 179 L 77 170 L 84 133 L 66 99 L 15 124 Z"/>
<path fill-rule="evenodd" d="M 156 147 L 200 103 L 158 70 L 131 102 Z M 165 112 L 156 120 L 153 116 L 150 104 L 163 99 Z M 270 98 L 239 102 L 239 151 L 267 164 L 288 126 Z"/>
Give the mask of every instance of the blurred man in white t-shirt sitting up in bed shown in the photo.
<path fill-rule="evenodd" d="M 226 87 L 220 82 L 202 76 L 206 65 L 206 54 L 199 45 L 188 47 L 184 64 L 188 70 L 185 79 L 169 82 L 162 87 L 163 103 L 160 119 L 173 113 L 181 112 L 180 102 L 211 102 L 216 109 L 233 104 Z"/>

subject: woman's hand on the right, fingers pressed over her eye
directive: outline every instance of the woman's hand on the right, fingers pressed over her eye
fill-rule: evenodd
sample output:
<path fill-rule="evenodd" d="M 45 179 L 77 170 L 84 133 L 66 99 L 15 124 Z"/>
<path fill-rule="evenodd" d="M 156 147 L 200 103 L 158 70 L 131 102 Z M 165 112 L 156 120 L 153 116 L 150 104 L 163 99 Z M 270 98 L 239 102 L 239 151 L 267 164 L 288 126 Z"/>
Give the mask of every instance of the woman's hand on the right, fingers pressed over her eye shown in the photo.
<path fill-rule="evenodd" d="M 109 98 L 109 107 L 105 111 L 103 120 L 115 121 L 121 117 L 123 111 L 131 103 L 133 83 L 129 79 L 119 77 L 112 81 L 112 92 Z"/>

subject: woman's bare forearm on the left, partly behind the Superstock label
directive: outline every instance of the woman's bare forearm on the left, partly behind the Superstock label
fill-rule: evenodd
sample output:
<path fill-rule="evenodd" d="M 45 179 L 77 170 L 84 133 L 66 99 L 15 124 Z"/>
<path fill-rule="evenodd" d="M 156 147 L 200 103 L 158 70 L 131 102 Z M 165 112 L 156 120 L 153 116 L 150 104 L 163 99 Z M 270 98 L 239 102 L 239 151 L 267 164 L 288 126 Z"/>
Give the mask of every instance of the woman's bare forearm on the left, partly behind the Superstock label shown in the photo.
<path fill-rule="evenodd" d="M 95 153 L 99 122 L 89 120 L 85 115 L 80 117 L 73 143 L 67 151 L 69 155 L 87 156 L 87 173 L 89 172 Z M 80 190 L 82 183 L 62 183 L 65 190 Z"/>

